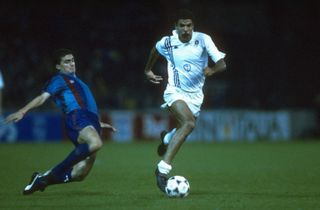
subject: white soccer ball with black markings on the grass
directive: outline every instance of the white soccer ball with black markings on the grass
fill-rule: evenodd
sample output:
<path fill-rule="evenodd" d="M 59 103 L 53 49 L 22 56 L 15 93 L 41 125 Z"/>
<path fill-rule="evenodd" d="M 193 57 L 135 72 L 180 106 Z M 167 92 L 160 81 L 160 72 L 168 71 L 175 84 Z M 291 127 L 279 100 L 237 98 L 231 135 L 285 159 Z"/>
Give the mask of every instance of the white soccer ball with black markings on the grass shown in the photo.
<path fill-rule="evenodd" d="M 169 197 L 183 198 L 189 194 L 190 184 L 183 176 L 172 176 L 168 179 L 165 188 Z"/>

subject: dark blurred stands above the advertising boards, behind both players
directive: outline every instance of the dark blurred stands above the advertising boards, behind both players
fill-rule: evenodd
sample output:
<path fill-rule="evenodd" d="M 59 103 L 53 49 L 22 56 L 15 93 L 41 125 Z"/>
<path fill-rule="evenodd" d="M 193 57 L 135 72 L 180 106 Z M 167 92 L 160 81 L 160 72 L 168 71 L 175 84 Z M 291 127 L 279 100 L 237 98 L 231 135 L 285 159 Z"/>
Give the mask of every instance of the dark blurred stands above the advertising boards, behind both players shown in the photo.
<path fill-rule="evenodd" d="M 148 109 L 163 85 L 149 84 L 149 51 L 171 34 L 179 8 L 195 13 L 195 30 L 227 54 L 227 71 L 207 80 L 205 108 L 315 108 L 319 104 L 320 3 L 257 1 L 7 1 L 0 3 L 4 109 L 39 94 L 55 72 L 51 53 L 76 52 L 77 74 L 100 108 Z M 155 72 L 165 75 L 160 60 Z"/>

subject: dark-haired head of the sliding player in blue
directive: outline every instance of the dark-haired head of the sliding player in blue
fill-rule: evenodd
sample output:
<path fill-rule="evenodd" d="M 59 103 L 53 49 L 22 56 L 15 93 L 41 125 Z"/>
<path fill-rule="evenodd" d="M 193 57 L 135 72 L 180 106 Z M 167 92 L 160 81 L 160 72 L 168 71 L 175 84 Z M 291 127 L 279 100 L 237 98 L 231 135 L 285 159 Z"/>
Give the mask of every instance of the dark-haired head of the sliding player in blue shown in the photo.
<path fill-rule="evenodd" d="M 58 69 L 62 73 L 74 73 L 76 66 L 74 62 L 74 53 L 69 49 L 58 49 L 54 52 L 53 61 Z"/>

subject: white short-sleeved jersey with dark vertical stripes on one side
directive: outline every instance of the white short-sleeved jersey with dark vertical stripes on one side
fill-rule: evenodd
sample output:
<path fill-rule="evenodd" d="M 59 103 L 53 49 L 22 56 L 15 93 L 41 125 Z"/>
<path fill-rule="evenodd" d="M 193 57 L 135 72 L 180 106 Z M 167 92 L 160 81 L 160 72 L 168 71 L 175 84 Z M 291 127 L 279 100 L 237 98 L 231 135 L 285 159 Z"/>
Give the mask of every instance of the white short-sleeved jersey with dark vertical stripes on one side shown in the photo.
<path fill-rule="evenodd" d="M 180 88 L 186 92 L 202 91 L 208 66 L 208 56 L 217 62 L 224 58 L 211 37 L 200 32 L 193 32 L 189 42 L 179 40 L 176 31 L 156 43 L 157 51 L 168 61 L 168 86 Z"/>

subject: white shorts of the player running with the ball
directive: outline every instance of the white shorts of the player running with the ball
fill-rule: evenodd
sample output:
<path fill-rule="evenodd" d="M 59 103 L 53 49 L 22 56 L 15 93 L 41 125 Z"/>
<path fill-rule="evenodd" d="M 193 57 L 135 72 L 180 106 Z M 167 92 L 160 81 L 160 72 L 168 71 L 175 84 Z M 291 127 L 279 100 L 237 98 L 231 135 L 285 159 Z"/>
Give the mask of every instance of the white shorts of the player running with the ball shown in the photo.
<path fill-rule="evenodd" d="M 198 117 L 203 103 L 203 92 L 199 91 L 191 93 L 185 92 L 180 88 L 167 86 L 163 94 L 163 99 L 165 103 L 161 105 L 161 108 L 168 108 L 173 104 L 173 102 L 182 100 L 186 102 L 193 116 Z"/>

